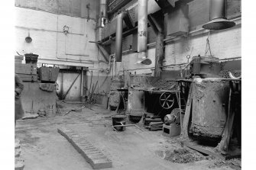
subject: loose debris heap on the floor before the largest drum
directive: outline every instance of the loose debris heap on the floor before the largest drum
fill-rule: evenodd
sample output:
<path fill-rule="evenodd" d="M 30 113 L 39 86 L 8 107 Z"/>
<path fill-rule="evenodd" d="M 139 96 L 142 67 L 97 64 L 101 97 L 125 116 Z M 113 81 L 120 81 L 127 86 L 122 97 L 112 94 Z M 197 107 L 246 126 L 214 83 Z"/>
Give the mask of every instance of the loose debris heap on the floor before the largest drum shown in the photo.
<path fill-rule="evenodd" d="M 197 152 L 190 152 L 187 149 L 174 149 L 173 152 L 166 151 L 165 154 L 164 159 L 176 163 L 190 163 L 205 159 Z"/>

